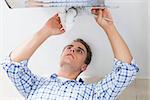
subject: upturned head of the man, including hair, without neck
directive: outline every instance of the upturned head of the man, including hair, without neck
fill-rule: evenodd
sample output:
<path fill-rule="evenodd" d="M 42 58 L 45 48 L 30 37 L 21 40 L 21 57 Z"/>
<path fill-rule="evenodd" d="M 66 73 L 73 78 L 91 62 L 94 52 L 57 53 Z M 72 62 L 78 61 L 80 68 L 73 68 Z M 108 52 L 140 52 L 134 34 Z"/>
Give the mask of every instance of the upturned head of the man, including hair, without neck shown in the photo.
<path fill-rule="evenodd" d="M 90 46 L 82 39 L 76 39 L 64 48 L 60 65 L 61 67 L 68 66 L 68 70 L 81 73 L 86 70 L 91 57 Z"/>

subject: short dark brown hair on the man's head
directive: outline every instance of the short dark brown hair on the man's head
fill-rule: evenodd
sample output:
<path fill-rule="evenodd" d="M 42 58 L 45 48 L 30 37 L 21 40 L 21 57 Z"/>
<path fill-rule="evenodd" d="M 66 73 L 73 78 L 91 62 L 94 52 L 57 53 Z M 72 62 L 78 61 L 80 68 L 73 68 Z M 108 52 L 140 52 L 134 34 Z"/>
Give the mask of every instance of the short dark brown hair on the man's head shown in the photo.
<path fill-rule="evenodd" d="M 83 39 L 80 39 L 80 38 L 73 40 L 73 42 L 80 42 L 85 46 L 85 48 L 87 50 L 87 56 L 86 56 L 86 59 L 84 62 L 85 62 L 85 64 L 89 65 L 91 62 L 91 59 L 92 59 L 92 51 L 91 51 L 90 46 Z"/>

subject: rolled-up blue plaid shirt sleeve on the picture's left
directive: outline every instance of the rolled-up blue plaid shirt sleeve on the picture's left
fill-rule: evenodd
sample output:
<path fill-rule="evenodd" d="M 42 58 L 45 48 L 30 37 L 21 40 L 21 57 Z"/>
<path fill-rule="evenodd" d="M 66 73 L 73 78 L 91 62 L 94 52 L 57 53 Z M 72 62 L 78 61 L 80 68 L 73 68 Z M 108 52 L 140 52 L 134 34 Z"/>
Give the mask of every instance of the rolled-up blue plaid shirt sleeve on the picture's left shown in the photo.
<path fill-rule="evenodd" d="M 14 62 L 10 57 L 6 57 L 1 63 L 8 77 L 25 98 L 28 97 L 33 86 L 35 88 L 35 83 L 38 81 L 38 77 L 31 73 L 27 64 L 28 60 Z"/>

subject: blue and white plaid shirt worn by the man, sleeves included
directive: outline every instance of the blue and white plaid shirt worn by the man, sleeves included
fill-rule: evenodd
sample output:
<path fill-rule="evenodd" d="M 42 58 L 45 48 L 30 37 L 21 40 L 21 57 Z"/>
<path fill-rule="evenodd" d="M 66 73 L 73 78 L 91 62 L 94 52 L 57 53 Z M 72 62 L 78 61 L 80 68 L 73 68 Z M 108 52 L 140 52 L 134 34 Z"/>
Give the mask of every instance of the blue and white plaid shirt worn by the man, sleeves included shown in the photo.
<path fill-rule="evenodd" d="M 34 75 L 28 60 L 13 62 L 10 57 L 1 63 L 8 77 L 27 100 L 115 100 L 135 79 L 138 67 L 114 59 L 113 70 L 97 84 L 61 80 L 56 74 L 44 78 Z"/>

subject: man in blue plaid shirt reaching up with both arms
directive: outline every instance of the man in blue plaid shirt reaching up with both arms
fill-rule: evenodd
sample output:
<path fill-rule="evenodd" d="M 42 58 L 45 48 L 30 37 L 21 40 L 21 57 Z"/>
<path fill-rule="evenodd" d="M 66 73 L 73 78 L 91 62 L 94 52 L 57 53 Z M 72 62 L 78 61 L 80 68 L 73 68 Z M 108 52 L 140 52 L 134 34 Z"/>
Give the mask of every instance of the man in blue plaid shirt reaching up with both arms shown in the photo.
<path fill-rule="evenodd" d="M 35 50 L 49 37 L 63 34 L 58 14 L 26 43 L 16 48 L 3 62 L 9 78 L 27 100 L 115 100 L 135 79 L 138 67 L 132 55 L 115 28 L 108 9 L 93 8 L 97 24 L 104 29 L 114 53 L 114 67 L 97 84 L 77 81 L 91 61 L 90 47 L 82 39 L 67 45 L 61 55 L 60 71 L 50 78 L 38 77 L 27 68 L 27 61 Z"/>

